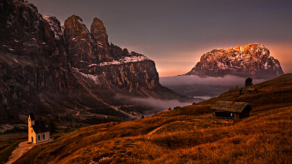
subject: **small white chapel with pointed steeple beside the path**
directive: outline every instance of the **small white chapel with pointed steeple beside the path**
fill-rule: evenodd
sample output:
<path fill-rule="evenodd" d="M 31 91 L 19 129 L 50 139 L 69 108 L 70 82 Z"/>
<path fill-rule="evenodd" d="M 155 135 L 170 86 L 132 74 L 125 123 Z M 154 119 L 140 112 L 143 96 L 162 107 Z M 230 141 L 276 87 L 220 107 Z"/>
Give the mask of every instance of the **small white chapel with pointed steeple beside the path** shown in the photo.
<path fill-rule="evenodd" d="M 36 122 L 35 115 L 29 113 L 29 142 L 40 143 L 49 140 L 49 129 L 43 122 Z"/>

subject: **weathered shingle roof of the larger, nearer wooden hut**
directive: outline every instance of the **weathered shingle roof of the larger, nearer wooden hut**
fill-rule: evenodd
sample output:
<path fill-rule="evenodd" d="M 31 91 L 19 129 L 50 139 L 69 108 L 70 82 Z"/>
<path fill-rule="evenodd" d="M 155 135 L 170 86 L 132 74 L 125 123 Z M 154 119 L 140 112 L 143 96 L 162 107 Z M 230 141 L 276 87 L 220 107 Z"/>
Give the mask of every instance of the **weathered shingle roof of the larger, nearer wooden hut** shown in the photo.
<path fill-rule="evenodd" d="M 217 101 L 216 104 L 214 104 L 211 109 L 241 113 L 243 109 L 247 106 L 249 105 L 246 102 Z"/>

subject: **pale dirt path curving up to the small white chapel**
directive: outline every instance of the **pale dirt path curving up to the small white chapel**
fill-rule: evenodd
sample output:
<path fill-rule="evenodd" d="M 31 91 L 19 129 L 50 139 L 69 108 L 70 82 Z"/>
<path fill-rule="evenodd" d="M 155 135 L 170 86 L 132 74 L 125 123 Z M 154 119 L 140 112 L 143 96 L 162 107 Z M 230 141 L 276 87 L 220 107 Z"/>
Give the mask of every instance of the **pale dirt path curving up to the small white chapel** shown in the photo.
<path fill-rule="evenodd" d="M 49 140 L 51 141 L 51 140 Z M 47 142 L 49 142 L 47 141 Z M 42 142 L 42 143 L 31 143 L 28 141 L 24 141 L 24 142 L 20 142 L 19 145 L 15 148 L 15 150 L 13 150 L 11 156 L 9 157 L 9 160 L 6 164 L 10 164 L 10 163 L 14 163 L 15 161 L 17 161 L 18 158 L 20 158 L 24 153 L 26 153 L 26 151 L 29 151 L 30 149 L 32 149 L 33 147 L 35 147 L 36 145 L 40 145 L 43 143 L 47 143 L 47 142 Z"/>

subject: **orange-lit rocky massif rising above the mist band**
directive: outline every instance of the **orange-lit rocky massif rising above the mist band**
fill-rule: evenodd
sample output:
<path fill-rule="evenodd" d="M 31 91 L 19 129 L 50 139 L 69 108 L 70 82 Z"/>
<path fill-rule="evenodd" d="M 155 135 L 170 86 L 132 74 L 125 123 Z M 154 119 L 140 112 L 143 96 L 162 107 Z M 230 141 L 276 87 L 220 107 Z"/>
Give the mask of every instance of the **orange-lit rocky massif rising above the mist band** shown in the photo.
<path fill-rule="evenodd" d="M 185 75 L 225 76 L 232 74 L 256 79 L 271 79 L 284 74 L 279 61 L 263 44 L 254 43 L 232 49 L 214 49 Z"/>

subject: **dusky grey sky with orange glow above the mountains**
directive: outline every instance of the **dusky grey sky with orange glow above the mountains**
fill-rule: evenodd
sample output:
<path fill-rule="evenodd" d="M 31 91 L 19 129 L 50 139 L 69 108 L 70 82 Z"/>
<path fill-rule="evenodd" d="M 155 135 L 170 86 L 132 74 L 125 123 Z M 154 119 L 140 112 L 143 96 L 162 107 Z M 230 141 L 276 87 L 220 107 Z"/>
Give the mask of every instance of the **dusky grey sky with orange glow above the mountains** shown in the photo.
<path fill-rule="evenodd" d="M 213 49 L 259 42 L 292 72 L 292 1 L 30 0 L 61 24 L 79 15 L 102 19 L 108 42 L 154 60 L 159 76 L 186 74 Z"/>

